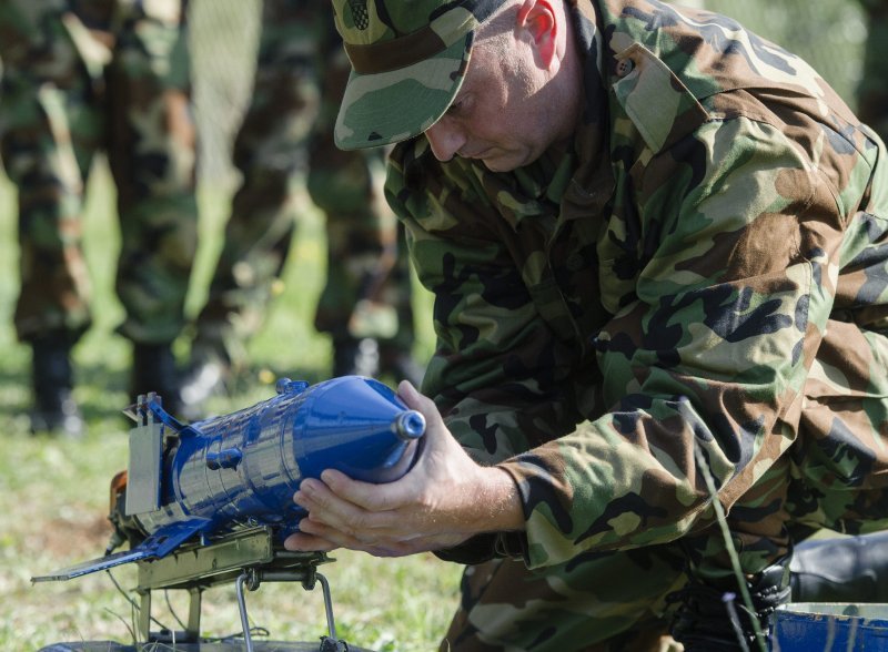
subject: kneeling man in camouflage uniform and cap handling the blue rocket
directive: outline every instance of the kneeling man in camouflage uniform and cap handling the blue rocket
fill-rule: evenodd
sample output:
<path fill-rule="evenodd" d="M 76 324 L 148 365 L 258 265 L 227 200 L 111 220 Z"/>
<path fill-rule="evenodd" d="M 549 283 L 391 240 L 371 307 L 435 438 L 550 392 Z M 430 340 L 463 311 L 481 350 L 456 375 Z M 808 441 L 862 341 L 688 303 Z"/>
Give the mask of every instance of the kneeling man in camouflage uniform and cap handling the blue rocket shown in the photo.
<path fill-rule="evenodd" d="M 705 11 L 333 4 L 437 347 L 412 471 L 286 546 L 471 563 L 442 650 L 764 649 L 798 541 L 888 526 L 881 140 Z"/>

